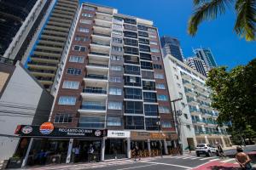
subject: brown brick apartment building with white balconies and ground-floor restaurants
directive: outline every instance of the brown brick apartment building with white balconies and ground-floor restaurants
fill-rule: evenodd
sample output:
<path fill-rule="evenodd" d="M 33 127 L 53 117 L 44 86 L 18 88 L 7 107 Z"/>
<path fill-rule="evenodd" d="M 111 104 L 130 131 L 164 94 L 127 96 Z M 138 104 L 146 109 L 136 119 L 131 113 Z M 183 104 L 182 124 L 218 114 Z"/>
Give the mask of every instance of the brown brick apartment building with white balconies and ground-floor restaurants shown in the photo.
<path fill-rule="evenodd" d="M 67 163 L 73 149 L 80 149 L 75 161 L 87 162 L 90 144 L 97 160 L 130 158 L 136 145 L 145 156 L 170 153 L 177 133 L 153 22 L 92 3 L 81 4 L 76 21 L 49 119 L 53 133 L 39 134 L 27 153 L 51 150 Z"/>

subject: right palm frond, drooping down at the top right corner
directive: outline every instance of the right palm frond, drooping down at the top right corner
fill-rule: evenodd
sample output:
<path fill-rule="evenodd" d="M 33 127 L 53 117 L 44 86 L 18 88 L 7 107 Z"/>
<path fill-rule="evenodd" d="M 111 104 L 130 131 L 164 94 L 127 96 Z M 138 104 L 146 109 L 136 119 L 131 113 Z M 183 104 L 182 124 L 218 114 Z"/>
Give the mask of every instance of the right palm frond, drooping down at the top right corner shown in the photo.
<path fill-rule="evenodd" d="M 255 40 L 256 0 L 237 0 L 236 13 L 236 34 L 245 37 L 247 41 Z"/>

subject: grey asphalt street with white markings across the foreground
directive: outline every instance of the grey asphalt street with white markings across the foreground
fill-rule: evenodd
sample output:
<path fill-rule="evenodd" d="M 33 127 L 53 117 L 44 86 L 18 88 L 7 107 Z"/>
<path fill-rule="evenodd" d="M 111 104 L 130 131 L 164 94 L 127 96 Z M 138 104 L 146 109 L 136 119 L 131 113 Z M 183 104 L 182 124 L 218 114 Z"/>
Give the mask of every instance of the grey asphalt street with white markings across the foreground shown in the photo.
<path fill-rule="evenodd" d="M 256 146 L 247 146 L 245 151 L 256 150 Z M 236 149 L 224 150 L 225 155 L 235 154 Z M 255 168 L 256 164 L 253 163 Z M 218 156 L 195 156 L 195 152 L 189 154 L 186 153 L 183 156 L 164 156 L 161 157 L 147 157 L 141 161 L 134 160 L 112 160 L 112 161 L 101 161 L 95 163 L 80 163 L 80 164 L 67 164 L 50 167 L 38 167 L 28 168 L 35 170 L 54 170 L 54 169 L 95 169 L 95 170 L 154 170 L 154 169 L 173 169 L 173 170 L 184 170 L 184 169 L 214 169 L 214 170 L 235 170 L 239 169 L 239 165 L 234 158 L 225 157 L 223 159 Z"/>

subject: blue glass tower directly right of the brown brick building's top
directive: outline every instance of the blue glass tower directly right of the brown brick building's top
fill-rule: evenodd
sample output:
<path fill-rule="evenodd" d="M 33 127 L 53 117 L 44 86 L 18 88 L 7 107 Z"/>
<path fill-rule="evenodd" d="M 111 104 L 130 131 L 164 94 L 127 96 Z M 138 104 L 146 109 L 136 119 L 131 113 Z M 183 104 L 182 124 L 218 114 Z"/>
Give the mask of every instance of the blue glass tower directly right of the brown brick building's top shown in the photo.
<path fill-rule="evenodd" d="M 171 54 L 176 59 L 183 61 L 183 51 L 177 38 L 163 36 L 160 38 L 160 43 L 164 56 Z"/>

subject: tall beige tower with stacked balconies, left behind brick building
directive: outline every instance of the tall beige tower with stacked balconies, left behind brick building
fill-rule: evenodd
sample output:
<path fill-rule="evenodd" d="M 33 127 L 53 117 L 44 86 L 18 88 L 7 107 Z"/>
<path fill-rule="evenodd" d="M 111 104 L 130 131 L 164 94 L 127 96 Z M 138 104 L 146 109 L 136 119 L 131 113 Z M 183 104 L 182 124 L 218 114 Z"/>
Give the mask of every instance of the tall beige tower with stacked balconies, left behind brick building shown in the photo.
<path fill-rule="evenodd" d="M 53 0 L 22 57 L 22 63 L 49 90 L 60 78 L 79 0 Z"/>

